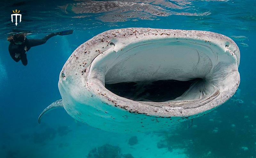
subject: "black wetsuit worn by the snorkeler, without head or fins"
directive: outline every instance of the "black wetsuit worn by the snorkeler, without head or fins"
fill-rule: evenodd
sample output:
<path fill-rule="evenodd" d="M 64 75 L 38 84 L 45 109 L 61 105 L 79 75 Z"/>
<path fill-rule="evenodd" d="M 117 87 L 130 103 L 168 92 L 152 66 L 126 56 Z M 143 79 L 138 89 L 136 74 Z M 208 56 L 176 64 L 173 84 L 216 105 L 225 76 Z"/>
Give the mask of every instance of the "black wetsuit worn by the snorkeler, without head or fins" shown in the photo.
<path fill-rule="evenodd" d="M 49 35 L 46 35 L 42 39 L 27 39 L 27 38 L 25 38 L 25 41 L 22 44 L 10 43 L 9 44 L 9 53 L 14 61 L 18 62 L 21 60 L 22 64 L 26 66 L 28 64 L 26 52 L 28 50 L 30 50 L 31 47 L 44 44 L 49 38 L 51 38 L 52 36 L 56 36 L 56 35 L 58 35 L 58 34 L 51 33 Z M 25 50 L 25 46 L 27 46 L 26 50 Z M 20 53 L 20 56 L 18 58 L 15 58 L 15 54 L 18 54 L 18 53 Z"/>

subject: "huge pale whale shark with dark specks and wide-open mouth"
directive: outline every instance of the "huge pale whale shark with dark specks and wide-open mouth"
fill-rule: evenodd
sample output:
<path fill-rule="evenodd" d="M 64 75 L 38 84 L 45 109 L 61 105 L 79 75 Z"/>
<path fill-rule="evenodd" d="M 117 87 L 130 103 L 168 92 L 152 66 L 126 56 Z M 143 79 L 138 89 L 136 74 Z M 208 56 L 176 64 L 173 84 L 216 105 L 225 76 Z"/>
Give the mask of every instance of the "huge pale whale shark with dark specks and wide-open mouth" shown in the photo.
<path fill-rule="evenodd" d="M 59 76 L 61 98 L 40 114 L 68 115 L 111 132 L 148 132 L 205 115 L 230 99 L 240 51 L 199 30 L 112 29 L 81 44 Z"/>

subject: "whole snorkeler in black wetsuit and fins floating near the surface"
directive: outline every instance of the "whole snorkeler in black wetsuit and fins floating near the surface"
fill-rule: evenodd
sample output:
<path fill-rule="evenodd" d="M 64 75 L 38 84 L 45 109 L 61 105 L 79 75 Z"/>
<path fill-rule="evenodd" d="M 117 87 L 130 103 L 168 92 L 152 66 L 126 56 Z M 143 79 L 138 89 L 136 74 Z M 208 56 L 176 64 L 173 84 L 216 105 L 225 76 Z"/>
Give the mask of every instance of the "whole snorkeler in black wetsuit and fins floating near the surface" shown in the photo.
<path fill-rule="evenodd" d="M 53 36 L 65 36 L 72 33 L 73 30 L 60 31 L 46 35 L 42 39 L 27 39 L 25 34 L 11 35 L 7 38 L 7 41 L 10 42 L 9 53 L 14 61 L 18 62 L 21 60 L 22 64 L 26 66 L 28 64 L 27 51 L 31 47 L 44 44 L 49 38 Z"/>

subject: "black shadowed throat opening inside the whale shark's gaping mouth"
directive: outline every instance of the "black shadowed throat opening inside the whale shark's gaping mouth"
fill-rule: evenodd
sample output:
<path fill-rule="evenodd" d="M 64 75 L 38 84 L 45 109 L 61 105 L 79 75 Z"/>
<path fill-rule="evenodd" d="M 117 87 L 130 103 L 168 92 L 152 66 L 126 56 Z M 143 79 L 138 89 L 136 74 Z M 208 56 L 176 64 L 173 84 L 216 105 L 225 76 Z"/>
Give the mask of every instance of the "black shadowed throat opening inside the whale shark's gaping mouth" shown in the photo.
<path fill-rule="evenodd" d="M 202 80 L 158 80 L 154 82 L 122 82 L 105 84 L 105 87 L 120 97 L 134 101 L 164 102 L 180 97 L 189 87 Z"/>

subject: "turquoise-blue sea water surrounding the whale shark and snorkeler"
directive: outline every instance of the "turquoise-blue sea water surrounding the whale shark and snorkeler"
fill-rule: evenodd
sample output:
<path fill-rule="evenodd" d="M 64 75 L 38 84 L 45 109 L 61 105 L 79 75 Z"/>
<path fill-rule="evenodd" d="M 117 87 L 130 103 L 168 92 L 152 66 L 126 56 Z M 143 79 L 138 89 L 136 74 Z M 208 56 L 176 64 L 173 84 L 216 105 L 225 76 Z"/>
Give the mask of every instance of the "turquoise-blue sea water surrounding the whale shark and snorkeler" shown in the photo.
<path fill-rule="evenodd" d="M 0 157 L 256 157 L 255 1 L 126 2 L 133 5 L 125 1 L 0 2 Z M 22 14 L 17 26 L 10 17 L 15 9 Z M 61 99 L 59 74 L 76 47 L 103 31 L 128 27 L 196 29 L 248 37 L 243 41 L 248 47 L 235 41 L 241 52 L 236 97 L 193 119 L 191 128 L 182 122 L 165 131 L 111 133 L 75 121 L 64 109 L 47 113 L 38 124 L 41 111 Z M 27 66 L 14 62 L 8 53 L 6 37 L 10 34 L 26 32 L 29 39 L 42 38 L 66 29 L 74 33 L 32 47 Z M 100 155 L 89 154 L 95 148 Z"/>

